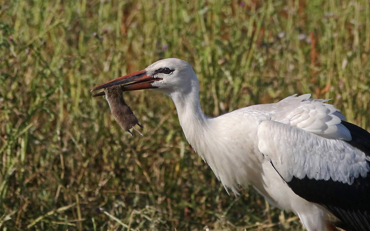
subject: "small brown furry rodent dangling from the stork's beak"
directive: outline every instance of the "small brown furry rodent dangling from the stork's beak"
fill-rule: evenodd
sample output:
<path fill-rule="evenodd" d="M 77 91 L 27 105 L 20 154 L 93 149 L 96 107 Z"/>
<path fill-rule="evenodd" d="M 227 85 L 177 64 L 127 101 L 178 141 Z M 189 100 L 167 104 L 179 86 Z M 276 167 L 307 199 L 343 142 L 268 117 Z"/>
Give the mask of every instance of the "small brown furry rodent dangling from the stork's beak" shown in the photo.
<path fill-rule="evenodd" d="M 131 133 L 129 129 L 136 124 L 142 128 L 142 126 L 139 124 L 139 120 L 134 115 L 134 112 L 132 112 L 131 108 L 123 99 L 121 86 L 111 86 L 110 88 L 106 88 L 104 92 L 105 99 L 108 101 L 112 115 L 123 130 Z"/>

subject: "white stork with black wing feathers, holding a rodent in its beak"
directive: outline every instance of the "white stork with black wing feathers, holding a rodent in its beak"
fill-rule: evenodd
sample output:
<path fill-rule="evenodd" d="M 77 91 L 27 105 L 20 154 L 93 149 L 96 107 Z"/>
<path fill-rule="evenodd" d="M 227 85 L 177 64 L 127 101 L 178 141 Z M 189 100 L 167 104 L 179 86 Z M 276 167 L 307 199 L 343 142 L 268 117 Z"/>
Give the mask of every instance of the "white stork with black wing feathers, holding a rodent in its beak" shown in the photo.
<path fill-rule="evenodd" d="M 155 88 L 171 97 L 186 139 L 226 190 L 237 194 L 250 183 L 309 231 L 370 230 L 370 133 L 345 122 L 327 100 L 292 95 L 209 118 L 198 78 L 177 58 L 92 91 L 121 84 L 122 91 Z M 340 220 L 335 226 L 333 215 Z"/>

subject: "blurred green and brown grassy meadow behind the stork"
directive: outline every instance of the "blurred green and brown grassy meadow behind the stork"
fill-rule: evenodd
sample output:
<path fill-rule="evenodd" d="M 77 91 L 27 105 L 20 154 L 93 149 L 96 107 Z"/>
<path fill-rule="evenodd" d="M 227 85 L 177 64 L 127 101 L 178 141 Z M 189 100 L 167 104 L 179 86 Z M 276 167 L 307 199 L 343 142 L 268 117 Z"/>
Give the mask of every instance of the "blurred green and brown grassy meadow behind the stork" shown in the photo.
<path fill-rule="evenodd" d="M 368 0 L 3 0 L 1 230 L 304 230 L 251 186 L 229 196 L 166 96 L 125 94 L 143 137 L 90 97 L 169 57 L 208 116 L 312 93 L 370 129 Z"/>

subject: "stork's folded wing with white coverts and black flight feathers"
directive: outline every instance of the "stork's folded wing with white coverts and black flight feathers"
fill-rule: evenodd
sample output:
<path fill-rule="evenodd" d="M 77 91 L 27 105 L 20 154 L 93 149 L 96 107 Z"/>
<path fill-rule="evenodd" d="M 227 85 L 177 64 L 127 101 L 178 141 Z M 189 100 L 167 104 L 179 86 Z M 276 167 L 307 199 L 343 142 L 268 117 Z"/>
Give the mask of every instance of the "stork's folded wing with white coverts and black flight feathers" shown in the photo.
<path fill-rule="evenodd" d="M 298 196 L 323 205 L 349 228 L 370 230 L 370 134 L 341 125 L 350 140 L 266 120 L 259 125 L 258 148 Z"/>

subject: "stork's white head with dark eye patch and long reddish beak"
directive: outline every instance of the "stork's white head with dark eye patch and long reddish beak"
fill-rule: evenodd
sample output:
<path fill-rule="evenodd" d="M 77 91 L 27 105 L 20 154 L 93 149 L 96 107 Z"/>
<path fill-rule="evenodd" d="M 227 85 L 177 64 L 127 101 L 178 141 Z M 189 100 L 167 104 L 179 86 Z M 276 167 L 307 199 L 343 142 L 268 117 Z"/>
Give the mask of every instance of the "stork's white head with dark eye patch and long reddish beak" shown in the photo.
<path fill-rule="evenodd" d="M 96 86 L 91 91 L 114 85 L 121 85 L 122 91 L 156 88 L 167 95 L 175 92 L 186 94 L 192 89 L 198 91 L 199 88 L 198 79 L 192 67 L 178 58 L 159 60 L 141 71 L 115 78 Z M 92 96 L 101 95 L 104 95 L 104 91 Z"/>

